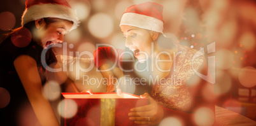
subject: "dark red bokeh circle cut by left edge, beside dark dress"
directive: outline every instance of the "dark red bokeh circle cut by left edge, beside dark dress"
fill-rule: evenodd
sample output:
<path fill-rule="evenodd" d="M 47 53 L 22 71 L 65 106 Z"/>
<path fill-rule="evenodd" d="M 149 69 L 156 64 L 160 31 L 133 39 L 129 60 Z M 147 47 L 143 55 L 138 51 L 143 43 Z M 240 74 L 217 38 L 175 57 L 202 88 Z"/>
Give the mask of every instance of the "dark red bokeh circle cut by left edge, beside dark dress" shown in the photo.
<path fill-rule="evenodd" d="M 11 96 L 8 90 L 2 87 L 0 87 L 0 96 L 0 108 L 4 108 L 9 104 Z"/>

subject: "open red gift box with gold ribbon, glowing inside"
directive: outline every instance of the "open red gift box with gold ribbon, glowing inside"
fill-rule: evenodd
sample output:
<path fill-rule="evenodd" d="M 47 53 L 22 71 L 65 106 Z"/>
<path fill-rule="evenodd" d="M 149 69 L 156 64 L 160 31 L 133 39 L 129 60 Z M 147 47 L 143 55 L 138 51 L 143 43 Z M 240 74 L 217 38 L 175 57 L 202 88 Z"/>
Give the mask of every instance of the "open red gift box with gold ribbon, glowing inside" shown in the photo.
<path fill-rule="evenodd" d="M 136 125 L 129 120 L 131 108 L 145 106 L 147 99 L 122 93 L 62 93 L 64 106 L 60 114 L 64 126 Z"/>

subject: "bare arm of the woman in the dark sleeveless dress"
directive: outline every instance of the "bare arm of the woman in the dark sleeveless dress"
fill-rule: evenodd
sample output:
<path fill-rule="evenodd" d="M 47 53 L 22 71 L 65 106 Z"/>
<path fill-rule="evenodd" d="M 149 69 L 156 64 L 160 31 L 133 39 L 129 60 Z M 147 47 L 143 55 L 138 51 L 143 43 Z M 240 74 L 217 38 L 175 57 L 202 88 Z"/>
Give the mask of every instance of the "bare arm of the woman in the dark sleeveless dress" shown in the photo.
<path fill-rule="evenodd" d="M 28 55 L 20 55 L 13 64 L 41 125 L 59 125 L 50 102 L 43 95 L 36 60 Z"/>

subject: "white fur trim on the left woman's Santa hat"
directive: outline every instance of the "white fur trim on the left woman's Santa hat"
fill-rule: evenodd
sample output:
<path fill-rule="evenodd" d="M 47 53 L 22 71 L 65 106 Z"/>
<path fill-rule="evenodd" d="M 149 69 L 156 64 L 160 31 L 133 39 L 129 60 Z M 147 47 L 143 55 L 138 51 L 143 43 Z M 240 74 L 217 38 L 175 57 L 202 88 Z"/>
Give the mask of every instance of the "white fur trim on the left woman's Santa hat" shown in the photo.
<path fill-rule="evenodd" d="M 22 26 L 28 22 L 31 22 L 32 20 L 47 17 L 61 18 L 72 21 L 73 27 L 70 29 L 70 31 L 76 29 L 80 23 L 76 17 L 75 11 L 68 6 L 63 6 L 60 4 L 36 4 L 25 9 L 22 15 Z"/>

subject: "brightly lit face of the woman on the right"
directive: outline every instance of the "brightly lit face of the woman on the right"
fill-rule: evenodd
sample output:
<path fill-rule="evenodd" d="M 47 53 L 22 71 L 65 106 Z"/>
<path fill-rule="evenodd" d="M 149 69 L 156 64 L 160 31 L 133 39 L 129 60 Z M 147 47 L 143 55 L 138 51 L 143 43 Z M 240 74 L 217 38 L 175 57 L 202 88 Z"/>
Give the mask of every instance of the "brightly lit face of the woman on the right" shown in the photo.
<path fill-rule="evenodd" d="M 120 28 L 125 37 L 125 46 L 134 52 L 139 62 L 145 62 L 152 53 L 151 31 L 130 25 L 121 25 Z"/>

